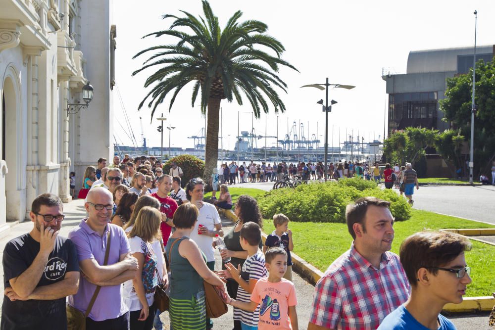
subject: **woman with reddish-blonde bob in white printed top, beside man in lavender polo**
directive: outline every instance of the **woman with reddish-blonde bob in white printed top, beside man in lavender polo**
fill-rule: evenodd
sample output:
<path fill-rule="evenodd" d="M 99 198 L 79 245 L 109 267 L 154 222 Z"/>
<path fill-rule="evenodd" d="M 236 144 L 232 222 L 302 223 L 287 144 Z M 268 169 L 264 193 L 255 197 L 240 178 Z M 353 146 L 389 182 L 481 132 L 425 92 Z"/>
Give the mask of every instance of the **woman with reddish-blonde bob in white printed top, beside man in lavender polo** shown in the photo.
<path fill-rule="evenodd" d="M 155 315 L 154 292 L 158 285 L 158 258 L 161 250 L 154 251 L 152 242 L 161 237 L 161 214 L 157 209 L 143 207 L 129 233 L 133 257 L 138 260 L 136 277 L 124 283 L 124 301 L 129 308 L 130 329 L 151 330 Z M 164 273 L 164 277 L 167 273 Z"/>

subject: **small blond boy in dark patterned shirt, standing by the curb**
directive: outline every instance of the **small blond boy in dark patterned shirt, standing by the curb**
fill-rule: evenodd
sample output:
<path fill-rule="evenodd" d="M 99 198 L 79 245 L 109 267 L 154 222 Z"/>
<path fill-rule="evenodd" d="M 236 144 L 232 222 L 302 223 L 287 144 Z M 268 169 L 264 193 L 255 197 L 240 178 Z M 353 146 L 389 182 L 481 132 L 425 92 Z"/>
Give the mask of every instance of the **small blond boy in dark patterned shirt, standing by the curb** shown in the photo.
<path fill-rule="evenodd" d="M 289 218 L 282 213 L 275 214 L 273 216 L 273 226 L 275 226 L 275 230 L 266 237 L 263 253 L 274 246 L 284 249 L 287 253 L 287 272 L 284 275 L 284 279 L 292 282 L 291 251 L 294 250 L 294 243 L 292 242 L 292 232 L 289 229 Z"/>

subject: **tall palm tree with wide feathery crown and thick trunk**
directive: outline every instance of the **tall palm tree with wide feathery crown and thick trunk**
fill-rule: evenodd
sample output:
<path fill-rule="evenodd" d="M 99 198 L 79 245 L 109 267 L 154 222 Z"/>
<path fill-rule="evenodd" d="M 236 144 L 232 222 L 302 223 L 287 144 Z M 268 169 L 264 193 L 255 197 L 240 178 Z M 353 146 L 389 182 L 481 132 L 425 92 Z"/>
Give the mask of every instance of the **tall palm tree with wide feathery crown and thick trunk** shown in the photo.
<path fill-rule="evenodd" d="M 194 83 L 193 107 L 201 91 L 201 113 L 207 114 L 204 177 L 209 178 L 218 160 L 218 123 L 222 99 L 232 102 L 235 98 L 242 105 L 241 94 L 244 94 L 256 118 L 259 118 L 261 110 L 268 113 L 265 97 L 273 104 L 275 113 L 284 112 L 286 107 L 273 89 L 276 86 L 287 93 L 287 85 L 277 75 L 279 66 L 297 69 L 280 58 L 285 48 L 277 39 L 265 33 L 268 29 L 265 23 L 256 20 L 238 22 L 242 12 L 237 11 L 222 30 L 208 1 L 203 0 L 202 4 L 205 18 L 197 18 L 184 10 L 181 12 L 185 17 L 162 16 L 164 19 L 174 18 L 175 21 L 168 30 L 153 32 L 143 38 L 166 35 L 178 38 L 179 42 L 149 47 L 137 53 L 133 58 L 148 51 L 156 51 L 143 63 L 141 69 L 133 72 L 133 76 L 149 67 L 158 66 L 158 70 L 145 82 L 145 88 L 154 86 L 139 104 L 141 109 L 150 98 L 148 107 L 152 108 L 151 118 L 172 90 L 175 91 L 170 99 L 169 111 L 177 94 L 187 84 Z M 192 32 L 186 33 L 176 28 L 188 28 Z M 268 47 L 276 56 L 255 49 L 255 46 Z"/>

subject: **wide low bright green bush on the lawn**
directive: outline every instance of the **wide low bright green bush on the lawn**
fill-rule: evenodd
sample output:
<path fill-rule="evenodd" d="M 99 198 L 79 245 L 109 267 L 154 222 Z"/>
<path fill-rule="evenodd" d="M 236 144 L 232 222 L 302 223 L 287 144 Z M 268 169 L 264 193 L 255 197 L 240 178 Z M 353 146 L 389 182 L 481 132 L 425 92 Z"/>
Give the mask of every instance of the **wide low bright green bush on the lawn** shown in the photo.
<path fill-rule="evenodd" d="M 364 189 L 366 187 L 371 188 Z M 411 206 L 404 197 L 390 189 L 381 190 L 374 183 L 370 186 L 359 178 L 271 190 L 258 198 L 258 205 L 263 217 L 268 219 L 276 213 L 284 213 L 291 221 L 345 223 L 347 205 L 363 196 L 390 201 L 390 211 L 396 220 L 411 217 Z"/>

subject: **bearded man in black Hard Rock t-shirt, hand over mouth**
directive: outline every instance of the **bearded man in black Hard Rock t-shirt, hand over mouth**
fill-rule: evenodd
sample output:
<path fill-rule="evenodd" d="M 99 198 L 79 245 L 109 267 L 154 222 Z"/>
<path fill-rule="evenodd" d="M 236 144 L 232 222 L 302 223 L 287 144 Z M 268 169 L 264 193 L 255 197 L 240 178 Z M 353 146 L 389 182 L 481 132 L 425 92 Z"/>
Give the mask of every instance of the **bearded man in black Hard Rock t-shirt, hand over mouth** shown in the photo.
<path fill-rule="evenodd" d="M 63 204 L 44 193 L 31 205 L 31 232 L 3 250 L 5 292 L 0 329 L 67 329 L 65 297 L 79 285 L 74 243 L 59 236 Z"/>

